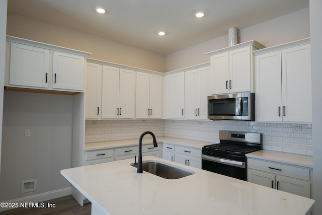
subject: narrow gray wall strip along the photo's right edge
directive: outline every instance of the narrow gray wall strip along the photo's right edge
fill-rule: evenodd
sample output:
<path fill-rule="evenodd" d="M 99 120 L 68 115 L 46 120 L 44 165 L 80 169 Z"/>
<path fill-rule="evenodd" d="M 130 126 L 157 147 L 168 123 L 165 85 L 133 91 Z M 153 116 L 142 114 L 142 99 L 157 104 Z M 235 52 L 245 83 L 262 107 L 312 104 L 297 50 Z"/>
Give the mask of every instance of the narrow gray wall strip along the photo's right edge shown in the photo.
<path fill-rule="evenodd" d="M 313 195 L 315 214 L 322 214 L 322 1 L 310 0 L 312 98 L 313 98 Z"/>

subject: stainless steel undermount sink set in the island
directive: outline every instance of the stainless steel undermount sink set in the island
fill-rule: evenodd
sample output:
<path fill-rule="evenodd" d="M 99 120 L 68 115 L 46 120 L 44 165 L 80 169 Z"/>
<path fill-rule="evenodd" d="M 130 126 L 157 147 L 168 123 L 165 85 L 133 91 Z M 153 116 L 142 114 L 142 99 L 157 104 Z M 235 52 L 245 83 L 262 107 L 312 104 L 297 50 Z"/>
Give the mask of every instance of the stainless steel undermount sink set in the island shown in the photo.
<path fill-rule="evenodd" d="M 134 163 L 130 165 L 136 167 Z M 181 169 L 159 161 L 145 161 L 142 163 L 142 168 L 145 172 L 167 179 L 178 179 L 194 174 L 191 170 Z"/>

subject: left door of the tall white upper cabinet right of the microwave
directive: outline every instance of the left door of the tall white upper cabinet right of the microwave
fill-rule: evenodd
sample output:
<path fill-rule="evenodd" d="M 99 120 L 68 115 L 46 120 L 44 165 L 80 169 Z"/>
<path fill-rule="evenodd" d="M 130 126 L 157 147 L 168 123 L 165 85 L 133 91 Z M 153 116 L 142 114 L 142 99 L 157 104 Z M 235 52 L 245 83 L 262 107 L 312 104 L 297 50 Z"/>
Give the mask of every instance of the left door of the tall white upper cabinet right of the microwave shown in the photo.
<path fill-rule="evenodd" d="M 282 121 L 281 52 L 255 56 L 256 120 Z"/>

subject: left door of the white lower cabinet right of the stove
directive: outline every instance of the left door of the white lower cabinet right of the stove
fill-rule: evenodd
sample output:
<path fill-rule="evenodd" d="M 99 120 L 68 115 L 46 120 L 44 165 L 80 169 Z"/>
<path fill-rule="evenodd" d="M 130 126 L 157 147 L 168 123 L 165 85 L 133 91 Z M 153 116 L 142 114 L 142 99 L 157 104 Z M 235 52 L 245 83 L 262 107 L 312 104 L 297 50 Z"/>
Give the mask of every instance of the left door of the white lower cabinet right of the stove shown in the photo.
<path fill-rule="evenodd" d="M 275 189 L 275 174 L 248 169 L 247 181 Z"/>

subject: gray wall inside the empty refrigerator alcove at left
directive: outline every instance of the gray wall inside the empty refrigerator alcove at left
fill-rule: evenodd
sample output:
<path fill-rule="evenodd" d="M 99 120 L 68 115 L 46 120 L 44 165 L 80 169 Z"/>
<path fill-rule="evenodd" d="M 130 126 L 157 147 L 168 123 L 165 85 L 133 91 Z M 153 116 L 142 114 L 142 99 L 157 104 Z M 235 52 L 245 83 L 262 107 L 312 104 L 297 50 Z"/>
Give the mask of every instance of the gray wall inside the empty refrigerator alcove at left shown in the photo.
<path fill-rule="evenodd" d="M 5 91 L 0 201 L 69 187 L 60 175 L 71 167 L 72 96 Z M 25 137 L 25 129 L 31 136 Z M 37 190 L 20 193 L 21 181 Z"/>

